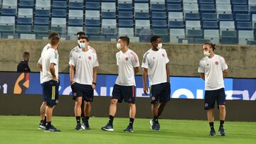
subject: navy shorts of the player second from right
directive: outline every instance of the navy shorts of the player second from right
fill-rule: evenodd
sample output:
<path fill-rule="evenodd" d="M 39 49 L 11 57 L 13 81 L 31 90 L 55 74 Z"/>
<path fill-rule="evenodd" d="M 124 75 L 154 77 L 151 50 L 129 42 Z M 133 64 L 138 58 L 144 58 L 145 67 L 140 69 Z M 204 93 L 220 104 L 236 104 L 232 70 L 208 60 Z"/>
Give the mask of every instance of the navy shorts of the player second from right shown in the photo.
<path fill-rule="evenodd" d="M 151 104 L 170 101 L 171 98 L 171 85 L 169 82 L 161 84 L 154 84 L 150 87 Z"/>

